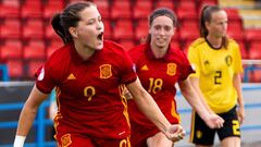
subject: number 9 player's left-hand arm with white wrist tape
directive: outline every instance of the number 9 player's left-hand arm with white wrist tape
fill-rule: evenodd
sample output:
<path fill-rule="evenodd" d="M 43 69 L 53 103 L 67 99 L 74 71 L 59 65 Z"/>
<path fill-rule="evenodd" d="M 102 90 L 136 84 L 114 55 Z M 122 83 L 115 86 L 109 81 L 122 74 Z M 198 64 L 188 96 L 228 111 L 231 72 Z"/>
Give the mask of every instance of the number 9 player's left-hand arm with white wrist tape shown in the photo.
<path fill-rule="evenodd" d="M 37 110 L 40 103 L 47 98 L 48 95 L 39 91 L 36 86 L 33 87 L 29 97 L 20 114 L 14 147 L 23 147 L 24 140 L 35 121 Z"/>

